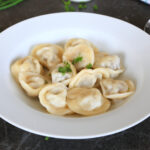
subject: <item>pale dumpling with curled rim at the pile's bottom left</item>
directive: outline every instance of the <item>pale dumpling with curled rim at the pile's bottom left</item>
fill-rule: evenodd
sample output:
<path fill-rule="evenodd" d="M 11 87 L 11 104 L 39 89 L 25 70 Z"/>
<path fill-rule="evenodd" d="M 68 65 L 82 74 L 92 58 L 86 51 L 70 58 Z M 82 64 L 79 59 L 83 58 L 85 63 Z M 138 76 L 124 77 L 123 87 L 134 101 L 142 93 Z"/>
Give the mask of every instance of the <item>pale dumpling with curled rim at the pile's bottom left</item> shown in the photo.
<path fill-rule="evenodd" d="M 67 87 L 62 83 L 48 84 L 39 93 L 39 99 L 42 106 L 47 111 L 55 115 L 67 115 L 72 111 L 68 108 L 66 102 Z"/>

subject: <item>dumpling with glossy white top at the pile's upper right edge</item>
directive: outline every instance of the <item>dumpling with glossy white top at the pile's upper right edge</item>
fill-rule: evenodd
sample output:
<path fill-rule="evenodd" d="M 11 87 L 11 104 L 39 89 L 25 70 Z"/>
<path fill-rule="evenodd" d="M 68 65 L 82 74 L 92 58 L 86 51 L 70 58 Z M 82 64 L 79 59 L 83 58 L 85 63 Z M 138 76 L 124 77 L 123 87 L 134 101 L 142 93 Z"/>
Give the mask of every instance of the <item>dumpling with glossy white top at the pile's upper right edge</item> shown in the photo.
<path fill-rule="evenodd" d="M 105 55 L 105 53 L 102 55 L 104 56 L 96 59 L 93 68 L 107 68 L 111 78 L 116 78 L 124 71 L 119 56 Z"/>

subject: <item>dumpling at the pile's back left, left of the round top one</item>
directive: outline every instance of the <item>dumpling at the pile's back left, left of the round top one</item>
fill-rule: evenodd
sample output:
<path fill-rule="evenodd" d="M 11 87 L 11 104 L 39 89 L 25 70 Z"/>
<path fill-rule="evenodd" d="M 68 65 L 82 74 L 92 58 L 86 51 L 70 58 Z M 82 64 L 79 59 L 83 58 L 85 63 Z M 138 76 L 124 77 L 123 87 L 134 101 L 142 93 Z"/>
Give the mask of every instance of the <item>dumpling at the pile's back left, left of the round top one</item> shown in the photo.
<path fill-rule="evenodd" d="M 62 54 L 63 49 L 54 44 L 37 45 L 31 52 L 32 56 L 50 70 L 62 61 Z"/>

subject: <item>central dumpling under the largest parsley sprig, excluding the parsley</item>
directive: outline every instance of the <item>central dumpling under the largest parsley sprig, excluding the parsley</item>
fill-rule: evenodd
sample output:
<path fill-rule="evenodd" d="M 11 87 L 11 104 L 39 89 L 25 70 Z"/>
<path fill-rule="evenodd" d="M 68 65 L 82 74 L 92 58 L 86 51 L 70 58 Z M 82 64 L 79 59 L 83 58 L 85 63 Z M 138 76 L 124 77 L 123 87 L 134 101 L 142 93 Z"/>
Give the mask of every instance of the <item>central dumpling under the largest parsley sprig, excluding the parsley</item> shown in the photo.
<path fill-rule="evenodd" d="M 64 67 L 65 63 L 68 63 L 70 65 L 71 72 L 62 73 L 59 72 L 59 67 Z M 76 68 L 72 65 L 72 63 L 65 62 L 58 64 L 51 72 L 52 76 L 52 83 L 64 83 L 65 85 L 68 85 L 71 81 L 71 79 L 76 75 Z"/>

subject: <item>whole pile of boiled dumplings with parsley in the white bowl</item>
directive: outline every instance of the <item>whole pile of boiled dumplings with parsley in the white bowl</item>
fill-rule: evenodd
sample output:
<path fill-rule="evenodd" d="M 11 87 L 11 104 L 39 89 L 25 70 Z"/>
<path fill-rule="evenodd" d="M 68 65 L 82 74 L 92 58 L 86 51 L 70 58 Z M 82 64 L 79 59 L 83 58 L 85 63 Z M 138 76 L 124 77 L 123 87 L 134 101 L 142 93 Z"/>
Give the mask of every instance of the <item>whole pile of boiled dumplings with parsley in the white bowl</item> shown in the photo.
<path fill-rule="evenodd" d="M 132 95 L 131 80 L 117 80 L 124 72 L 120 58 L 99 51 L 86 39 L 74 38 L 64 48 L 35 46 L 15 61 L 11 73 L 28 96 L 38 97 L 54 115 L 90 116 L 108 111 L 113 100 Z"/>

